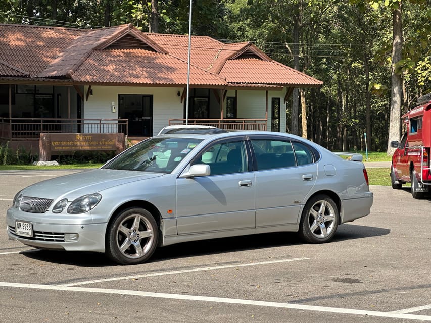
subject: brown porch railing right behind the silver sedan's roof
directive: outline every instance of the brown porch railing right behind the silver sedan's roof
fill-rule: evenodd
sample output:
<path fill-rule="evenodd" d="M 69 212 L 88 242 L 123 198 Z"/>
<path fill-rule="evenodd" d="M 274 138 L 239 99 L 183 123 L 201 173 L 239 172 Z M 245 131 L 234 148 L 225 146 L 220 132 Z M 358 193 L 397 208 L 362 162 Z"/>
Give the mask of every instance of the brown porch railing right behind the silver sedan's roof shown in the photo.
<path fill-rule="evenodd" d="M 169 119 L 169 125 L 185 125 L 185 119 Z M 188 125 L 213 126 L 225 130 L 266 130 L 266 119 L 188 119 Z"/>

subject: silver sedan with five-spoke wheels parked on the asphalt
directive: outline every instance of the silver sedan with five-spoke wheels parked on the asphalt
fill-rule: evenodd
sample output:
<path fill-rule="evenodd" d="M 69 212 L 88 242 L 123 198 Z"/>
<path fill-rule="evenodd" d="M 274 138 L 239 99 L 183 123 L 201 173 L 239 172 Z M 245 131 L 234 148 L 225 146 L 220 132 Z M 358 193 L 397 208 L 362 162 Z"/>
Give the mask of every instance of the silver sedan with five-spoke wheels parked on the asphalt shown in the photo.
<path fill-rule="evenodd" d="M 373 202 L 355 159 L 273 132 L 155 136 L 100 169 L 21 190 L 7 232 L 121 264 L 145 262 L 158 246 L 229 236 L 285 231 L 328 242 Z"/>

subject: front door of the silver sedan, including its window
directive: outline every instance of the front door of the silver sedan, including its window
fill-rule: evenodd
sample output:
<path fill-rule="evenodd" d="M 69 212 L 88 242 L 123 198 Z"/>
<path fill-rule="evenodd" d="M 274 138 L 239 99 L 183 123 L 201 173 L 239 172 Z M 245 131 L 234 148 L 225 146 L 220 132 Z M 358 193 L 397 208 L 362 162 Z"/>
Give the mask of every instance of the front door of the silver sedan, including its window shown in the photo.
<path fill-rule="evenodd" d="M 255 185 L 244 140 L 219 141 L 204 148 L 191 164 L 210 166 L 209 176 L 178 178 L 178 234 L 213 237 L 255 230 Z"/>

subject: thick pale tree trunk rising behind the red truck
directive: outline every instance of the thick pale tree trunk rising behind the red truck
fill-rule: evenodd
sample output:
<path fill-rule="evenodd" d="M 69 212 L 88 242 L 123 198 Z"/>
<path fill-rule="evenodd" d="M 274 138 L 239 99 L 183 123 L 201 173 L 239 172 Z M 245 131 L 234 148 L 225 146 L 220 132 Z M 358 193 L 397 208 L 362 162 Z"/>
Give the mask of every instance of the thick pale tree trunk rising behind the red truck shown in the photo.
<path fill-rule="evenodd" d="M 401 2 L 393 12 L 393 41 L 392 41 L 392 77 L 391 77 L 391 115 L 389 121 L 388 154 L 394 153 L 390 143 L 392 140 L 400 139 L 400 117 L 403 82 L 401 75 L 395 73 L 395 64 L 402 58 L 403 35 L 401 21 Z"/>

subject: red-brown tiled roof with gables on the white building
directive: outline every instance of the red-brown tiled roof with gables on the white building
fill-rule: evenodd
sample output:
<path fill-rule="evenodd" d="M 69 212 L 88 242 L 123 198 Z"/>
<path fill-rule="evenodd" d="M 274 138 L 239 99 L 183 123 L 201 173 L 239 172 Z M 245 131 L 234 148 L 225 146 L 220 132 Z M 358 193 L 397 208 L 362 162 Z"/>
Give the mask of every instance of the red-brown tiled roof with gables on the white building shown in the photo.
<path fill-rule="evenodd" d="M 186 84 L 188 36 L 142 33 L 132 25 L 79 30 L 0 25 L 0 79 L 76 84 Z M 190 84 L 206 87 L 320 86 L 251 43 L 192 36 Z"/>

